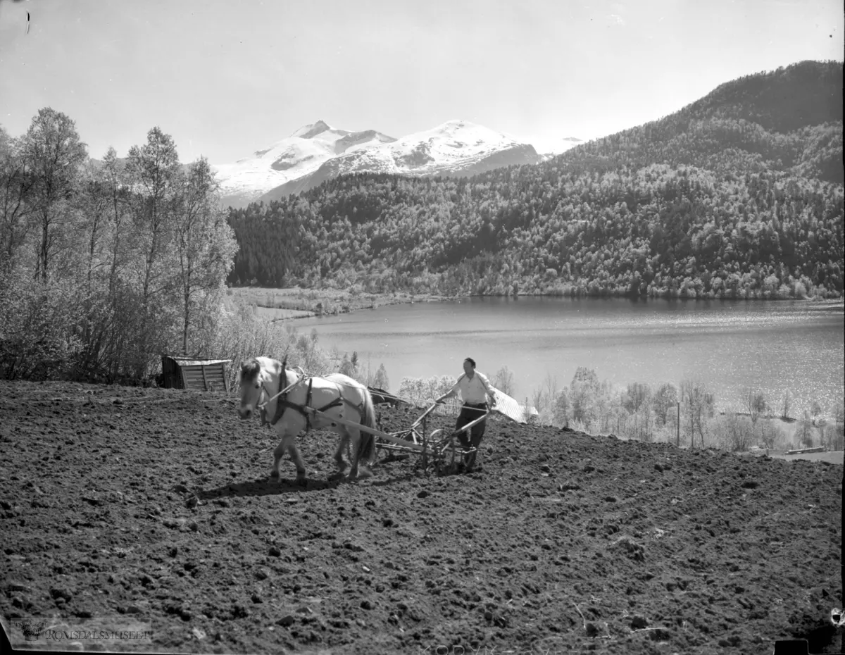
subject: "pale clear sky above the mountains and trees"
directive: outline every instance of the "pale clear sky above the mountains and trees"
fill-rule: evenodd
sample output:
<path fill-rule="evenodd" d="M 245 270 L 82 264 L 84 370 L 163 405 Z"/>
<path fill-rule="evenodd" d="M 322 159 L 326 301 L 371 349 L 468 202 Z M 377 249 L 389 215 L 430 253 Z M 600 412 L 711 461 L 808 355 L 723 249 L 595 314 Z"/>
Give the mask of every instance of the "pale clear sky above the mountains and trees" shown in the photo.
<path fill-rule="evenodd" d="M 90 156 L 159 126 L 221 164 L 317 120 L 399 138 L 461 119 L 542 152 L 842 61 L 843 21 L 841 0 L 0 0 L 0 125 L 50 106 Z"/>

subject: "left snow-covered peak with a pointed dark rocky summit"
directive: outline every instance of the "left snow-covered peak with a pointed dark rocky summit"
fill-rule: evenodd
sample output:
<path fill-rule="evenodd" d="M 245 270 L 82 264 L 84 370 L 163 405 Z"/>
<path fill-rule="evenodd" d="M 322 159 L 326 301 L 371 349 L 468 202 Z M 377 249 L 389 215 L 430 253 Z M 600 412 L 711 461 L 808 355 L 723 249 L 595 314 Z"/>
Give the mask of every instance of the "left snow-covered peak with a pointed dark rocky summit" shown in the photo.
<path fill-rule="evenodd" d="M 223 204 L 246 206 L 271 188 L 311 174 L 333 157 L 391 141 L 395 139 L 373 129 L 350 132 L 321 120 L 305 125 L 252 156 L 215 165 Z"/>

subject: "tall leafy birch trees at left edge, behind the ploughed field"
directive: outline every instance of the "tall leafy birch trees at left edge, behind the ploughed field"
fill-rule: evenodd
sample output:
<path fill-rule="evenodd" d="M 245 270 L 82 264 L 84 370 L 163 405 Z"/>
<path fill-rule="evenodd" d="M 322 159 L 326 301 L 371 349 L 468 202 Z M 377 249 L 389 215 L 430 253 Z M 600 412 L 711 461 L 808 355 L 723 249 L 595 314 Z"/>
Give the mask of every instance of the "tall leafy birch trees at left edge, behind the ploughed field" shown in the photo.
<path fill-rule="evenodd" d="M 219 356 L 237 250 L 207 161 L 160 128 L 90 159 L 41 109 L 0 128 L 0 378 L 145 379 L 162 354 Z"/>

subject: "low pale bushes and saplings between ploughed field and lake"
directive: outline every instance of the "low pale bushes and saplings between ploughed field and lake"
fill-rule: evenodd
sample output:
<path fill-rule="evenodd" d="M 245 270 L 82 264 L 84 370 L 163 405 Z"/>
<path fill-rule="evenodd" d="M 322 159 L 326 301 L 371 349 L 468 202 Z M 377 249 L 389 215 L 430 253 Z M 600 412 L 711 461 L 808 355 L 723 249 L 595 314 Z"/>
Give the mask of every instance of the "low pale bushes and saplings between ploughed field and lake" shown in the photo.
<path fill-rule="evenodd" d="M 515 395 L 513 374 L 507 367 L 500 368 L 490 381 L 504 393 Z M 453 385 L 455 378 L 450 376 L 403 378 L 398 395 L 425 407 Z M 635 382 L 619 387 L 599 381 L 594 370 L 581 367 L 569 385 L 559 385 L 558 379 L 547 375 L 527 400 L 529 423 L 644 442 L 744 451 L 753 446 L 787 450 L 817 445 L 842 450 L 845 440 L 842 400 L 836 407 L 827 407 L 826 412 L 816 402 L 795 419 L 788 393 L 770 405 L 760 391 L 749 389 L 742 398 L 732 399 L 739 412 L 720 413 L 716 395 L 695 379 L 684 379 L 679 386 L 665 383 L 651 387 Z M 460 402 L 446 412 L 454 416 L 459 408 Z M 782 427 L 789 424 L 790 430 Z"/>

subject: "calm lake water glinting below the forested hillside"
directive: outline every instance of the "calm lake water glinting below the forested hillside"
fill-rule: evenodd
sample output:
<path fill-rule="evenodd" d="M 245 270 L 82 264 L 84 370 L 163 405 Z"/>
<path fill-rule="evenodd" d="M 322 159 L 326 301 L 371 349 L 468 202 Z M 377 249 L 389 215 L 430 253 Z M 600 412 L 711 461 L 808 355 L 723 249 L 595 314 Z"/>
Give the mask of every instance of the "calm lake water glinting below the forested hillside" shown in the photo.
<path fill-rule="evenodd" d="M 384 363 L 394 391 L 406 376 L 457 377 L 472 357 L 491 377 L 510 368 L 519 400 L 548 375 L 569 385 L 584 366 L 623 386 L 702 379 L 721 408 L 735 407 L 745 387 L 777 407 L 789 390 L 795 416 L 813 401 L 832 409 L 845 393 L 842 321 L 842 304 L 519 297 L 391 305 L 293 325 L 302 334 L 316 327 L 321 347 L 357 351 L 373 371 Z"/>

